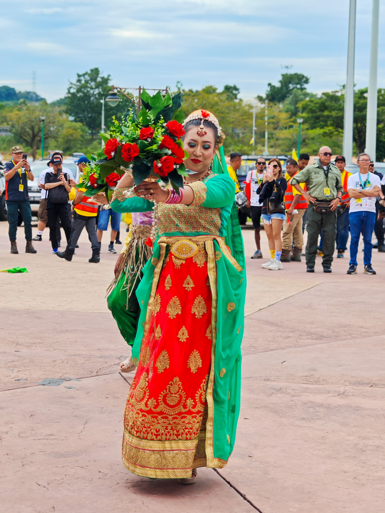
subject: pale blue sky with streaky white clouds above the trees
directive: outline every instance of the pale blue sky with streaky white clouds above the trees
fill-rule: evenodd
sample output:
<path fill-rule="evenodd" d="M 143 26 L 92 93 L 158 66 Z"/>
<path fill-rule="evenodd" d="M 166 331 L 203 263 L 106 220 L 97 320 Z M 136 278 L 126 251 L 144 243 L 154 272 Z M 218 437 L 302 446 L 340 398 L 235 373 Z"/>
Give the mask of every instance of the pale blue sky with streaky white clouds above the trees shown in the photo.
<path fill-rule="evenodd" d="M 371 0 L 357 0 L 358 87 L 368 85 Z M 349 0 L 0 0 L 0 85 L 56 100 L 99 67 L 121 87 L 222 88 L 263 94 L 284 66 L 309 89 L 344 84 Z M 378 86 L 385 87 L 385 5 Z"/>

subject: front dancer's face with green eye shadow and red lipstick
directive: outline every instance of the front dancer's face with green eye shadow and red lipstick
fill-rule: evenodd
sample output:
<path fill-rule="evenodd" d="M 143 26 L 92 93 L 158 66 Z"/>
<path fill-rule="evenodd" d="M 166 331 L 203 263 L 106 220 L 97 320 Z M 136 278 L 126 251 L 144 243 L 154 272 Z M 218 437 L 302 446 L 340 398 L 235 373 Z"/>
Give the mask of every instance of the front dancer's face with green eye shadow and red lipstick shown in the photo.
<path fill-rule="evenodd" d="M 213 130 L 205 128 L 207 134 L 204 137 L 200 137 L 197 130 L 198 127 L 191 127 L 183 138 L 183 146 L 188 153 L 188 159 L 185 159 L 184 165 L 186 169 L 196 173 L 204 173 L 214 159 L 217 146 Z"/>

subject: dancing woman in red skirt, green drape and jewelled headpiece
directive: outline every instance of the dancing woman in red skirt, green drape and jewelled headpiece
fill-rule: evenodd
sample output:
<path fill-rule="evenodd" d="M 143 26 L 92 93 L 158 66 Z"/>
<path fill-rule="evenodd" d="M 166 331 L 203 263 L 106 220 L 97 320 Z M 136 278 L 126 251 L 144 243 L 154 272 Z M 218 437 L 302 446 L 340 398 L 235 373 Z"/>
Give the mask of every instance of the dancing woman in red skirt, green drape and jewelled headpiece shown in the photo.
<path fill-rule="evenodd" d="M 184 164 L 194 174 L 181 195 L 143 182 L 138 197 L 127 199 L 124 177 L 111 207 L 153 208 L 159 223 L 137 289 L 138 369 L 125 408 L 123 462 L 139 476 L 189 484 L 197 467 L 224 467 L 234 447 L 246 280 L 235 185 L 223 149 L 222 164 L 216 155 L 224 139 L 218 120 L 195 111 L 184 130 Z"/>

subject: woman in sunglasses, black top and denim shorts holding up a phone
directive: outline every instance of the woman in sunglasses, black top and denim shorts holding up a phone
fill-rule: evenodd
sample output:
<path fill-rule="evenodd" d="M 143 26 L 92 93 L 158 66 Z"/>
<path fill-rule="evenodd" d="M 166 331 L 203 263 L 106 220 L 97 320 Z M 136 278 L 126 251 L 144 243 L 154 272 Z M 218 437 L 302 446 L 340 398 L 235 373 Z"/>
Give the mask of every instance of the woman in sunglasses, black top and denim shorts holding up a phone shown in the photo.
<path fill-rule="evenodd" d="M 278 159 L 272 159 L 267 166 L 262 187 L 259 187 L 259 203 L 262 203 L 262 219 L 268 239 L 271 259 L 262 264 L 264 269 L 277 271 L 283 269 L 282 254 L 282 225 L 285 220 L 285 205 L 283 202 L 287 182 L 282 176 L 282 166 Z"/>

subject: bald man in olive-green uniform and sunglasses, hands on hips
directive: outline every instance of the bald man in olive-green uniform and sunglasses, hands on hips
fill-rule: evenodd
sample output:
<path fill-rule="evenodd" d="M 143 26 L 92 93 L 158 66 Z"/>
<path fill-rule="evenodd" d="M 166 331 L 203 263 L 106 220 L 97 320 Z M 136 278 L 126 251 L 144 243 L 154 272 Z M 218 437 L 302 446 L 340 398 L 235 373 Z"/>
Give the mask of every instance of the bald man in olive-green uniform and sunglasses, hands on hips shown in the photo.
<path fill-rule="evenodd" d="M 336 208 L 342 196 L 343 187 L 341 172 L 330 161 L 332 150 L 322 146 L 318 153 L 318 160 L 302 169 L 292 178 L 292 185 L 309 202 L 309 217 L 307 218 L 307 244 L 306 244 L 306 271 L 314 272 L 317 256 L 318 236 L 322 230 L 323 238 L 323 272 L 332 272 L 333 253 L 336 240 Z M 307 191 L 299 185 L 305 182 Z M 326 212 L 317 212 L 314 208 L 316 202 L 330 204 Z"/>

